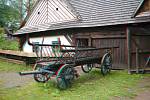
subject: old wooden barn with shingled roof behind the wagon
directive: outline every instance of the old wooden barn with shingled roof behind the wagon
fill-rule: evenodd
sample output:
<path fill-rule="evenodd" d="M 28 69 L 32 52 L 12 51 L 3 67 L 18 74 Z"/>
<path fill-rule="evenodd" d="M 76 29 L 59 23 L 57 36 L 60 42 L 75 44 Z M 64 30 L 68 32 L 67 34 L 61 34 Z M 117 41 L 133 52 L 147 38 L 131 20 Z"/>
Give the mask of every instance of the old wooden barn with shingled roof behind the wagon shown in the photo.
<path fill-rule="evenodd" d="M 37 0 L 14 36 L 24 52 L 32 42 L 115 47 L 114 69 L 139 72 L 150 64 L 150 0 Z"/>

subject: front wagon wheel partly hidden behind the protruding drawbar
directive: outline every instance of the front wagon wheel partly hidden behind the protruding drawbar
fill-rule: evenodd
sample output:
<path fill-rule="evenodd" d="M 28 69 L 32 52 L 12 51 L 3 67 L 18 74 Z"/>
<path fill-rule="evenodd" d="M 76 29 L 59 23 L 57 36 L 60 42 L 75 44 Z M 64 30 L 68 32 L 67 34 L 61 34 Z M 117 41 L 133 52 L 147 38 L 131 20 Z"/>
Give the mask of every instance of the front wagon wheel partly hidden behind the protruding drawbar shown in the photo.
<path fill-rule="evenodd" d="M 34 70 L 38 70 L 38 69 L 41 68 L 41 67 L 43 67 L 43 66 L 42 66 L 42 65 L 35 64 Z M 41 83 L 45 83 L 45 82 L 47 82 L 47 81 L 50 79 L 48 73 L 44 73 L 44 74 L 34 74 L 33 77 L 34 77 L 34 80 L 35 80 L 35 81 L 41 82 Z"/>

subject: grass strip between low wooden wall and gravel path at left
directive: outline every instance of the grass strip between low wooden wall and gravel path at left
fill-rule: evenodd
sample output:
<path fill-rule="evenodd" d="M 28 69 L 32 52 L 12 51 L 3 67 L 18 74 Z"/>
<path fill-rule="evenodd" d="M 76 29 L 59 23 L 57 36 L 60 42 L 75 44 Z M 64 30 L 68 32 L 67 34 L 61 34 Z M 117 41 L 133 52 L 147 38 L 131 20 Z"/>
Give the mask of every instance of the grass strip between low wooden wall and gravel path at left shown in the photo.
<path fill-rule="evenodd" d="M 31 69 L 30 66 L 9 63 L 6 61 L 4 62 L 0 60 L 0 72 L 18 72 L 18 71 L 25 71 L 30 69 Z"/>

